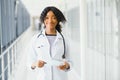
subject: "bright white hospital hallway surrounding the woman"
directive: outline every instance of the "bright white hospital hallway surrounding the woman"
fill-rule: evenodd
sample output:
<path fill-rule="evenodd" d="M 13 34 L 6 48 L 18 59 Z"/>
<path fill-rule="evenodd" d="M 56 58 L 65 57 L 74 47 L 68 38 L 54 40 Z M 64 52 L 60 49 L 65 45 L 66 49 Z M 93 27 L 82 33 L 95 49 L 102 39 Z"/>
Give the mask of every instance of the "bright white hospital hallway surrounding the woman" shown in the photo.
<path fill-rule="evenodd" d="M 26 58 L 47 6 L 67 20 L 68 80 L 120 80 L 120 0 L 0 0 L 0 80 L 35 80 Z"/>

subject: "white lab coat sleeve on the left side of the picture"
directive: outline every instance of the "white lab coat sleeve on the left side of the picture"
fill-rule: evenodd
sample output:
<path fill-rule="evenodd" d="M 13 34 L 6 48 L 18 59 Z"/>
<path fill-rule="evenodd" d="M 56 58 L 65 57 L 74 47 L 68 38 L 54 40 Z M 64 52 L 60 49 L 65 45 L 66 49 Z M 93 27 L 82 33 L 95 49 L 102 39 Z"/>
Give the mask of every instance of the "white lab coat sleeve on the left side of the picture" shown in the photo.
<path fill-rule="evenodd" d="M 26 53 L 27 53 L 27 69 L 28 70 L 32 70 L 31 69 L 31 65 L 37 61 L 37 53 L 35 51 L 34 48 L 34 44 L 35 44 L 35 36 L 33 36 L 33 38 L 31 39 L 27 49 L 26 49 Z"/>

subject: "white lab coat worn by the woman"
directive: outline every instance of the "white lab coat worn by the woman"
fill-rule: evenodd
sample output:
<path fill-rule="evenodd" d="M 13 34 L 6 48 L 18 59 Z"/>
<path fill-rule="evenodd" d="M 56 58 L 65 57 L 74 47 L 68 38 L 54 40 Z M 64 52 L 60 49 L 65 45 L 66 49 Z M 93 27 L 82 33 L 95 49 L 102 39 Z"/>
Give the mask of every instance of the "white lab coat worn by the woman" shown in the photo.
<path fill-rule="evenodd" d="M 45 35 L 45 30 L 32 38 L 27 55 L 27 66 L 29 67 L 29 69 L 31 69 L 31 64 L 37 60 L 43 60 L 47 62 L 44 67 L 35 69 L 37 71 L 37 79 L 35 80 L 67 80 L 68 71 L 59 70 L 57 68 L 57 66 L 62 64 L 64 60 L 70 64 L 71 68 L 67 42 L 68 41 L 66 41 L 65 38 L 66 58 L 63 59 L 63 38 L 59 32 L 57 32 L 56 39 L 52 46 L 52 54 L 50 54 L 50 45 Z"/>

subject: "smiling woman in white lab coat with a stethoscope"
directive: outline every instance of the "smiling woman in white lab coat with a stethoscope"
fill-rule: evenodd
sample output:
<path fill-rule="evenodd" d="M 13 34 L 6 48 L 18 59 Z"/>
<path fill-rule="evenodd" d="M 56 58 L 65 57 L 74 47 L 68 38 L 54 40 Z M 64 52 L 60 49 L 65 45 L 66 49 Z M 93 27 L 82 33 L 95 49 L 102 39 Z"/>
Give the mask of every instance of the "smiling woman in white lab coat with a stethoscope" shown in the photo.
<path fill-rule="evenodd" d="M 32 39 L 28 65 L 39 72 L 37 80 L 67 80 L 71 62 L 60 25 L 66 19 L 59 9 L 49 6 L 42 11 L 40 22 L 44 24 L 44 30 Z"/>

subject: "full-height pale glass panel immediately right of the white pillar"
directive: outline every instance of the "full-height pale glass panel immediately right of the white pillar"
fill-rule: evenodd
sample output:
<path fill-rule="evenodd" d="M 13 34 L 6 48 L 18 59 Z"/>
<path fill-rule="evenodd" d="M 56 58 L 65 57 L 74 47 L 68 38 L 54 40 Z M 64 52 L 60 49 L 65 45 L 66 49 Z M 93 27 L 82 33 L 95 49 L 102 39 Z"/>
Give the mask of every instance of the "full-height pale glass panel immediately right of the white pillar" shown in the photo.
<path fill-rule="evenodd" d="M 87 0 L 86 80 L 105 80 L 104 28 L 104 0 Z"/>

